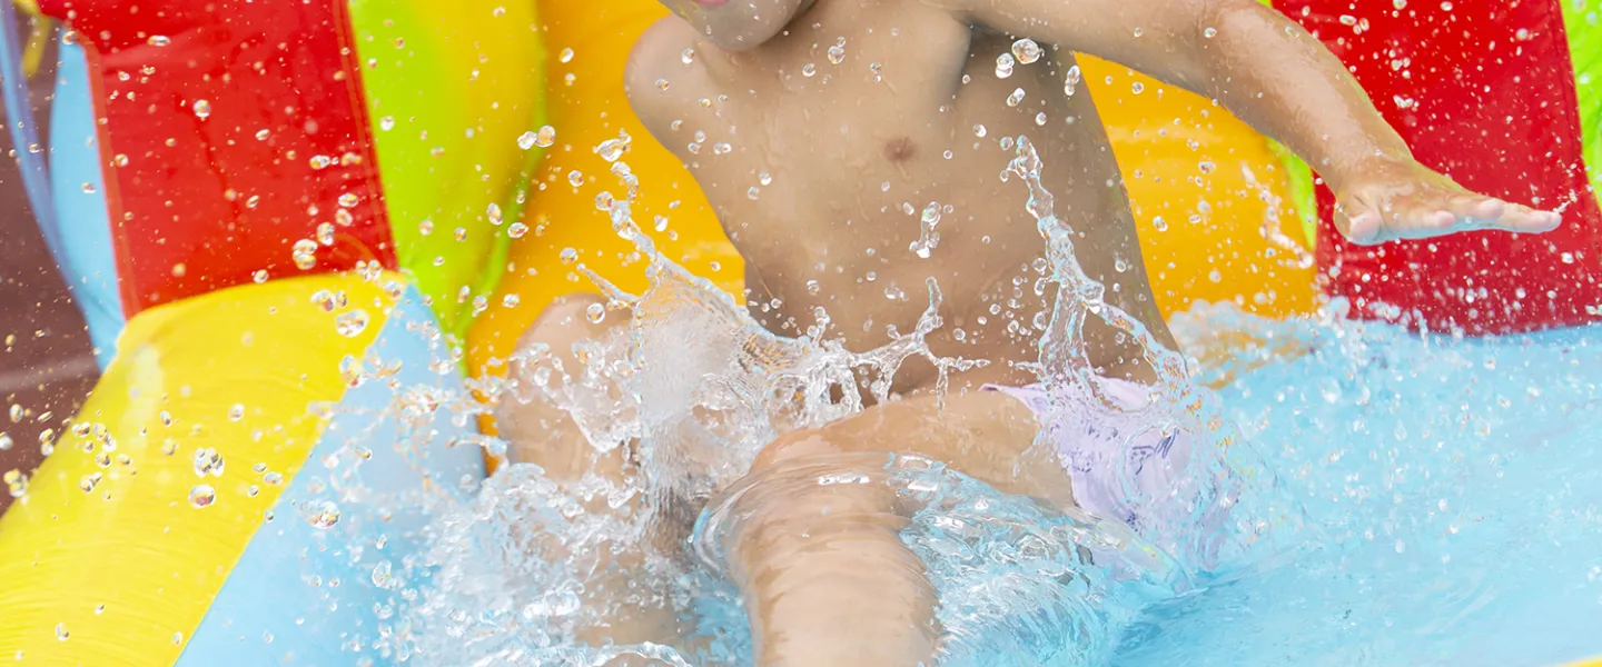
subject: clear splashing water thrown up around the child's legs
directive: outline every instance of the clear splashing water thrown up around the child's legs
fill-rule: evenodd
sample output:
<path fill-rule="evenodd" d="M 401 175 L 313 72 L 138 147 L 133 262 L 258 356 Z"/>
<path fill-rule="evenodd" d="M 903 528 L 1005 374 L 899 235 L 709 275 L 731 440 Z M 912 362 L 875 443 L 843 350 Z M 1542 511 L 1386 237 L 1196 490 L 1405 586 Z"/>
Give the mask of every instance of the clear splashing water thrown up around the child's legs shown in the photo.
<path fill-rule="evenodd" d="M 942 358 L 928 349 L 924 337 L 942 326 L 942 294 L 932 280 L 929 307 L 916 326 L 875 350 L 851 352 L 830 339 L 822 309 L 801 337 L 766 331 L 731 296 L 663 258 L 634 224 L 631 205 L 639 181 L 620 162 L 628 141 L 623 134 L 596 150 L 612 163 L 625 189 L 623 197 L 602 192 L 596 206 L 609 216 L 614 232 L 647 259 L 650 286 L 628 294 L 583 264 L 577 270 L 606 294 L 604 310 L 626 312 L 631 320 L 577 344 L 578 368 L 564 366 L 561 350 L 537 344 L 514 355 L 519 371 L 505 384 L 490 381 L 477 389 L 500 392 L 501 400 L 557 408 L 590 443 L 591 464 L 622 453 L 639 465 L 620 480 L 594 473 L 564 480 L 516 464 L 490 480 L 476 502 L 437 521 L 433 549 L 417 563 L 437 568 L 437 574 L 405 611 L 415 640 L 410 654 L 420 662 L 601 664 L 625 654 L 663 664 L 748 662 L 750 635 L 739 595 L 716 574 L 721 553 L 708 549 L 721 544 L 714 536 L 727 523 L 723 512 L 731 504 L 708 509 L 692 537 L 668 531 L 681 537 L 663 544 L 654 536 L 665 525 L 687 523 L 714 493 L 739 483 L 756 453 L 777 435 L 860 411 L 859 379 L 876 400 L 888 401 L 902 363 L 921 358 L 939 369 L 937 395 L 944 397 L 952 371 L 984 365 Z M 1017 176 L 1030 189 L 1028 210 L 1040 221 L 1051 278 L 1059 285 L 1038 361 L 1054 409 L 1112 411 L 1081 334 L 1089 317 L 1101 317 L 1141 344 L 1160 376 L 1153 392 L 1163 400 L 1120 416 L 1129 424 L 1155 425 L 1123 429 L 1126 433 L 1222 432 L 1216 419 L 1208 419 L 1206 400 L 1190 387 L 1184 358 L 1105 304 L 1102 286 L 1080 269 L 1073 232 L 1053 214 L 1051 194 L 1041 187 L 1033 144 L 1019 138 L 1009 147 L 1016 157 L 1004 178 Z M 924 213 L 926 248 L 932 248 L 940 208 L 932 203 Z M 689 339 L 697 345 L 682 344 Z M 1163 405 L 1171 408 L 1155 408 Z M 1195 501 L 1182 504 L 1182 512 L 1168 518 L 1171 523 L 1193 518 L 1214 502 L 1234 502 L 1202 481 L 1229 477 L 1221 445 L 1227 438 L 1213 440 L 1219 445 L 1200 446 L 1197 457 L 1208 456 L 1210 462 L 1197 465 L 1202 472 L 1176 491 Z M 1048 445 L 1041 443 L 1043 451 L 1054 451 Z M 1218 552 L 1216 534 L 1197 541 L 1205 547 L 1192 549 L 1177 537 L 1153 544 L 1121 523 L 1077 510 L 1045 510 L 916 456 L 894 457 L 888 470 L 900 494 L 923 507 L 902 539 L 928 563 L 940 593 L 947 664 L 1105 662 L 1121 627 L 1141 608 L 1192 587 L 1197 568 L 1187 558 L 1203 549 Z M 1133 489 L 1133 483 L 1126 486 Z M 682 537 L 698 545 L 702 565 L 682 557 Z M 586 601 L 582 582 L 596 573 L 615 573 L 617 555 L 625 552 L 641 553 L 638 571 L 646 574 L 636 574 L 628 595 L 610 606 Z M 384 569 L 384 577 L 392 576 Z M 625 608 L 670 608 L 679 617 L 694 617 L 695 627 L 678 649 L 583 648 L 577 641 L 585 627 Z M 1064 641 L 1070 635 L 1073 641 Z"/>

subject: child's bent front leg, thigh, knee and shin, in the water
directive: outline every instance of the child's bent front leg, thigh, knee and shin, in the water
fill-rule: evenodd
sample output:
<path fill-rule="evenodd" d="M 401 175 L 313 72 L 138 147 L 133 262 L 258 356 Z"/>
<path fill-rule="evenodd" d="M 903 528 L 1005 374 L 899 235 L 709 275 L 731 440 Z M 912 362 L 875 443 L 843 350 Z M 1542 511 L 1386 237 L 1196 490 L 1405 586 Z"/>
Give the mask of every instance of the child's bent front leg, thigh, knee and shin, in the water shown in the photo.
<path fill-rule="evenodd" d="M 939 629 L 923 563 L 902 542 L 891 453 L 944 461 L 1006 493 L 1072 502 L 1067 475 L 1025 461 L 1036 422 L 1000 393 L 870 408 L 788 433 L 737 485 L 724 552 L 763 665 L 929 665 Z"/>

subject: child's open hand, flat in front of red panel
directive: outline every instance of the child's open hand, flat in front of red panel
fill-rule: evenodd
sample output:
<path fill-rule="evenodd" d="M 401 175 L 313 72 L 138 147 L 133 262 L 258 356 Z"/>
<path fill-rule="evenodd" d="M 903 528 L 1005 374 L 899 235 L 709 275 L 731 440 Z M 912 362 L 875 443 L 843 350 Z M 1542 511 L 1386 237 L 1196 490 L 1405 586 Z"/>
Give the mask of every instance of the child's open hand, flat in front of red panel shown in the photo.
<path fill-rule="evenodd" d="M 1411 158 L 1375 160 L 1336 190 L 1334 226 L 1358 245 L 1477 229 L 1541 234 L 1557 213 L 1477 195 Z"/>

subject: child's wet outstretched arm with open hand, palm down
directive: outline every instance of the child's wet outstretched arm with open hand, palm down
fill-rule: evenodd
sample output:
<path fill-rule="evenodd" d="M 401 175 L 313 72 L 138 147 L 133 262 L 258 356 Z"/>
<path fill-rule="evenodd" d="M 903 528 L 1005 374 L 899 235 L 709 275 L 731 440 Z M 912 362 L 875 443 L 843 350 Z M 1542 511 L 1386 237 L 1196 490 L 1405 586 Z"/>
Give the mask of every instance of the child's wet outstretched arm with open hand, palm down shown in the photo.
<path fill-rule="evenodd" d="M 1216 99 L 1318 170 L 1336 194 L 1336 226 L 1357 243 L 1560 222 L 1419 165 L 1334 56 L 1254 0 L 924 2 Z"/>

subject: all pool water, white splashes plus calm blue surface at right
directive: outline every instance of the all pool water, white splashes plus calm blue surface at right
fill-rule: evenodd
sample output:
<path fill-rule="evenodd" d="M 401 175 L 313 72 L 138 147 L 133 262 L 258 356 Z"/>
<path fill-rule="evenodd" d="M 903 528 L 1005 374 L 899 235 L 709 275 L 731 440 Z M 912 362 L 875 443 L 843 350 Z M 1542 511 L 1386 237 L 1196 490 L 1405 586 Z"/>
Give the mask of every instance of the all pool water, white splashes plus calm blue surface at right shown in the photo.
<path fill-rule="evenodd" d="M 1459 341 L 1350 323 L 1339 304 L 1306 322 L 1198 307 L 1176 322 L 1187 349 L 1232 331 L 1304 352 L 1254 369 L 1243 363 L 1253 347 L 1193 363 L 1200 381 L 1234 377 L 1214 393 L 1101 304 L 1040 168 L 1019 141 L 1008 173 L 1030 187 L 1049 261 L 1041 272 L 1059 294 L 1041 331 L 1054 406 L 1097 405 L 1078 336 L 1088 317 L 1145 341 L 1163 400 L 1125 417 L 1192 432 L 1190 470 L 1174 491 L 1192 505 L 1230 505 L 1230 520 L 1203 534 L 1198 512 L 1179 504 L 1136 534 L 1000 494 L 939 462 L 888 459 L 892 483 L 923 507 L 902 539 L 940 598 L 940 664 L 1548 665 L 1602 653 L 1602 328 Z M 650 258 L 652 288 L 623 294 L 594 277 L 612 296 L 596 315 L 636 325 L 586 344 L 583 368 L 525 350 L 516 382 L 484 389 L 566 409 L 596 457 L 638 440 L 641 472 L 559 483 L 511 465 L 489 480 L 433 525 L 429 552 L 405 563 L 415 587 L 392 624 L 404 630 L 380 641 L 392 657 L 750 664 L 737 592 L 705 549 L 718 544 L 719 507 L 689 536 L 695 558 L 682 544 L 644 539 L 673 520 L 666 499 L 706 499 L 737 483 L 777 433 L 862 409 L 855 392 L 830 398 L 855 377 L 883 390 L 916 358 L 960 373 L 923 345 L 939 326 L 937 285 L 929 315 L 879 350 L 830 342 L 827 315 L 809 336 L 780 339 L 660 258 L 633 226 L 630 200 L 604 203 L 614 229 Z M 689 353 L 682 341 L 700 344 Z M 679 646 L 575 641 L 578 627 L 617 611 L 586 608 L 582 582 L 622 552 L 644 563 L 626 605 L 674 609 L 689 622 Z"/>

